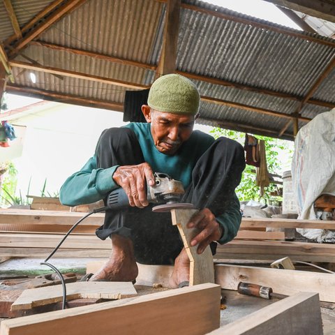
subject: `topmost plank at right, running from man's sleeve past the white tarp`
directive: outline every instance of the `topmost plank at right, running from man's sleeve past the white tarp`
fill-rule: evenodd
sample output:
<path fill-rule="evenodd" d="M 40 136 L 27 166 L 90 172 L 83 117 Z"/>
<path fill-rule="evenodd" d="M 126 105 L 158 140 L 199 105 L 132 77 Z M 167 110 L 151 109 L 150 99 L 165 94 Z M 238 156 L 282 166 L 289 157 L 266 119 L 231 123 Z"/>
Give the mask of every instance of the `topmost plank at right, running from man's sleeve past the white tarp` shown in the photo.
<path fill-rule="evenodd" d="M 315 228 L 334 229 L 335 221 L 296 220 L 290 218 L 242 218 L 241 228 Z"/>

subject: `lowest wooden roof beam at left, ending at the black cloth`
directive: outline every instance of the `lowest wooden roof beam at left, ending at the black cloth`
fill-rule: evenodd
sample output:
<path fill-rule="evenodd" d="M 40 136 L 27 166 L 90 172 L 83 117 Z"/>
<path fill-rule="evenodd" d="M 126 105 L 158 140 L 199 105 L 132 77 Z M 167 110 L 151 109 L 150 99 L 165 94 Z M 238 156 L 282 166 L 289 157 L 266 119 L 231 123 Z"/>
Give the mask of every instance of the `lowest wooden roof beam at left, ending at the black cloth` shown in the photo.
<path fill-rule="evenodd" d="M 73 96 L 70 94 L 46 91 L 44 89 L 36 89 L 35 87 L 22 87 L 19 85 L 8 84 L 8 93 L 40 98 L 48 101 L 57 101 L 59 103 L 70 103 L 73 105 L 82 105 L 87 107 L 103 108 L 105 110 L 114 110 L 117 112 L 124 111 L 124 104 L 113 101 L 96 100 L 92 98 L 84 98 L 82 96 Z"/>

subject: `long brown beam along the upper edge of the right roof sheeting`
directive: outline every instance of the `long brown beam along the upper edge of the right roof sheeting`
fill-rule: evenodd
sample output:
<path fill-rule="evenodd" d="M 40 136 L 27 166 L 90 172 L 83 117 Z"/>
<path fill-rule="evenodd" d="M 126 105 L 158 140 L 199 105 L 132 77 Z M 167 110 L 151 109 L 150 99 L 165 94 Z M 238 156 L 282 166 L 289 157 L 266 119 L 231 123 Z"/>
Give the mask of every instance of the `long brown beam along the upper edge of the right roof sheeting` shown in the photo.
<path fill-rule="evenodd" d="M 265 1 L 285 1 L 285 0 L 265 0 Z M 297 0 L 297 1 L 305 1 L 305 0 Z M 307 0 L 307 1 L 314 1 L 314 0 Z M 324 0 L 322 0 L 324 1 Z M 279 4 L 279 3 L 276 3 Z M 195 6 L 195 5 L 189 5 L 188 3 L 181 3 L 181 7 L 188 9 L 188 10 L 194 10 L 198 13 L 202 13 L 205 15 L 211 15 L 211 16 L 215 16 L 215 17 L 220 17 L 223 20 L 228 20 L 228 21 L 233 21 L 233 22 L 238 22 L 241 24 L 246 24 L 248 26 L 252 26 L 252 27 L 258 27 L 260 29 L 265 29 L 267 31 L 275 31 L 278 34 L 283 34 L 283 35 L 287 35 L 287 36 L 292 36 L 292 37 L 296 37 L 302 40 L 310 40 L 313 43 L 318 43 L 318 44 L 322 44 L 322 45 L 329 45 L 329 47 L 335 47 L 335 41 L 332 41 L 328 38 L 318 38 L 318 36 L 310 36 L 308 34 L 303 34 L 303 33 L 299 33 L 298 31 L 292 30 L 290 28 L 285 28 L 285 27 L 277 27 L 271 24 L 266 24 L 266 23 L 262 23 L 259 22 L 258 20 L 252 20 L 252 19 L 248 19 L 246 17 L 239 17 L 239 16 L 234 16 L 231 14 L 226 14 L 226 13 L 222 13 L 218 10 L 210 10 L 210 9 L 206 9 L 206 8 L 201 8 L 199 6 Z M 294 8 L 291 8 L 294 9 Z"/>

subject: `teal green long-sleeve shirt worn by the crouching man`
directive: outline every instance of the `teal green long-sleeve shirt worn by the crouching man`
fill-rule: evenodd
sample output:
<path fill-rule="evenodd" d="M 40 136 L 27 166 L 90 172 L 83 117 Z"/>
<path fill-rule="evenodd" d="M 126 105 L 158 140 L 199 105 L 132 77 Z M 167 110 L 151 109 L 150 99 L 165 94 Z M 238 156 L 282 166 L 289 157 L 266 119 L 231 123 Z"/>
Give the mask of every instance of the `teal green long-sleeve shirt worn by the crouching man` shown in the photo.
<path fill-rule="evenodd" d="M 191 137 L 183 143 L 177 154 L 169 156 L 156 149 L 151 136 L 150 124 L 131 123 L 126 127 L 134 131 L 140 143 L 144 161 L 149 163 L 152 170 L 169 174 L 173 179 L 181 181 L 184 188 L 187 188 L 191 183 L 195 163 L 214 142 L 214 138 L 210 135 L 193 131 Z M 68 177 L 61 186 L 61 203 L 76 206 L 105 198 L 107 193 L 119 187 L 112 179 L 117 168 L 118 165 L 107 169 L 97 168 L 96 156 L 89 158 L 84 167 Z M 239 200 L 235 194 L 227 208 L 223 214 L 216 217 L 224 232 L 219 241 L 221 244 L 227 243 L 236 236 L 241 223 Z"/>

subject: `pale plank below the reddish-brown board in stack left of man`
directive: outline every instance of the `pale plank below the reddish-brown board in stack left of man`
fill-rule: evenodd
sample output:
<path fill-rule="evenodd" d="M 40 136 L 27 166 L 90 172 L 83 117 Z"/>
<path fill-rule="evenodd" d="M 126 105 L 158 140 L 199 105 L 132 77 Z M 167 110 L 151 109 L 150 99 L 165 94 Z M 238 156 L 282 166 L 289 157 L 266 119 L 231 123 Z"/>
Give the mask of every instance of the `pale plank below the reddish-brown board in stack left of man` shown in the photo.
<path fill-rule="evenodd" d="M 54 248 L 64 234 L 35 232 L 0 232 L 0 247 Z M 95 234 L 70 234 L 61 248 L 111 249 L 110 239 L 99 239 Z"/>

